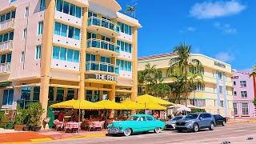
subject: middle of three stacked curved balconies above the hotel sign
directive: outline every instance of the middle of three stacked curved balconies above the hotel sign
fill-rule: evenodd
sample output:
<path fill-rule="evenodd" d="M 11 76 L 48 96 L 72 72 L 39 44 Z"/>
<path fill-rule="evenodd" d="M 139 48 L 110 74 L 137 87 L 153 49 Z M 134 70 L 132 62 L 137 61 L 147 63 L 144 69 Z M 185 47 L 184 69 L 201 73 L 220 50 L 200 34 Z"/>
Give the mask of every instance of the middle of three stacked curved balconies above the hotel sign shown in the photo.
<path fill-rule="evenodd" d="M 113 42 L 102 41 L 100 39 L 88 39 L 86 51 L 92 54 L 100 53 L 111 56 L 118 56 L 120 47 Z"/>

